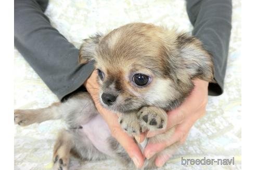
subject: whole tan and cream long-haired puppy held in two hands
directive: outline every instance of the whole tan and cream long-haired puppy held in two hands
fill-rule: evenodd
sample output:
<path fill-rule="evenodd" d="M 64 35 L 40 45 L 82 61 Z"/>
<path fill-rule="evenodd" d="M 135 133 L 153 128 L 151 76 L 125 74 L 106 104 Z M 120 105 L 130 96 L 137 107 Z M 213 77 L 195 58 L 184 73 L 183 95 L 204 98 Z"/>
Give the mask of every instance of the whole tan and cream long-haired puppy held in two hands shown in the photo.
<path fill-rule="evenodd" d="M 165 129 L 166 111 L 181 105 L 194 88 L 193 78 L 214 81 L 211 55 L 197 38 L 152 24 L 131 23 L 85 39 L 79 63 L 89 61 L 95 61 L 98 72 L 98 102 L 121 113 L 119 123 L 131 136 Z M 14 116 L 21 126 L 50 119 L 66 121 L 69 129 L 59 133 L 54 146 L 54 169 L 68 169 L 71 152 L 86 160 L 114 158 L 129 169 L 136 168 L 106 130 L 107 124 L 87 92 L 47 108 L 15 110 Z M 163 141 L 174 130 L 148 142 Z M 177 144 L 145 160 L 143 169 L 156 167 L 155 158 L 175 147 Z"/>

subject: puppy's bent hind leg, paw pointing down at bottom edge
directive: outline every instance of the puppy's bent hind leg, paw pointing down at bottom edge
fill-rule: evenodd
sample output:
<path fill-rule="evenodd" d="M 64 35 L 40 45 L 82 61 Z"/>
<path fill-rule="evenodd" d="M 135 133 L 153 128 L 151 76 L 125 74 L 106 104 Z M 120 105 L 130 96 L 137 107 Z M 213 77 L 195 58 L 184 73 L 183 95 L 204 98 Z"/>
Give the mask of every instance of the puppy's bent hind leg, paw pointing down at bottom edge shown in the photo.
<path fill-rule="evenodd" d="M 106 141 L 107 142 L 107 141 Z M 107 147 L 106 143 L 106 147 Z M 111 149 L 111 148 L 109 148 Z M 113 154 L 112 151 L 109 153 Z M 70 156 L 82 160 L 105 160 L 109 156 L 100 152 L 81 129 L 61 130 L 58 134 L 53 154 L 54 170 L 67 170 Z"/>

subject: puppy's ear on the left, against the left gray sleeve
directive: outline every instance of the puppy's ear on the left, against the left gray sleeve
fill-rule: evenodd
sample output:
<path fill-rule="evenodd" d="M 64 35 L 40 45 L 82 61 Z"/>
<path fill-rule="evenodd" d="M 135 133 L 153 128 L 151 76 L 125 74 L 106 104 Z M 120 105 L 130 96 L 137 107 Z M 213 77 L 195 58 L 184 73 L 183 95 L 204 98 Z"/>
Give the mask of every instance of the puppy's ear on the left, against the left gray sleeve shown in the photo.
<path fill-rule="evenodd" d="M 94 60 L 95 49 L 102 36 L 102 34 L 97 33 L 88 39 L 84 39 L 84 43 L 79 50 L 79 64 L 86 64 L 89 61 Z"/>

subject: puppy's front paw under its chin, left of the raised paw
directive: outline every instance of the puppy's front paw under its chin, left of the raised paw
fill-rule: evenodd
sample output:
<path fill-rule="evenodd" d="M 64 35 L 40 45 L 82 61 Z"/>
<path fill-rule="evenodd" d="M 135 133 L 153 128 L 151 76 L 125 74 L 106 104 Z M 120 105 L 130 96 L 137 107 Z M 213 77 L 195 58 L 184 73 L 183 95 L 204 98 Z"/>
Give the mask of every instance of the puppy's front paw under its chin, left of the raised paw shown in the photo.
<path fill-rule="evenodd" d="M 122 114 L 118 119 L 119 124 L 122 129 L 128 133 L 130 136 L 139 135 L 142 132 L 145 132 L 145 129 L 140 126 L 137 114 Z"/>

